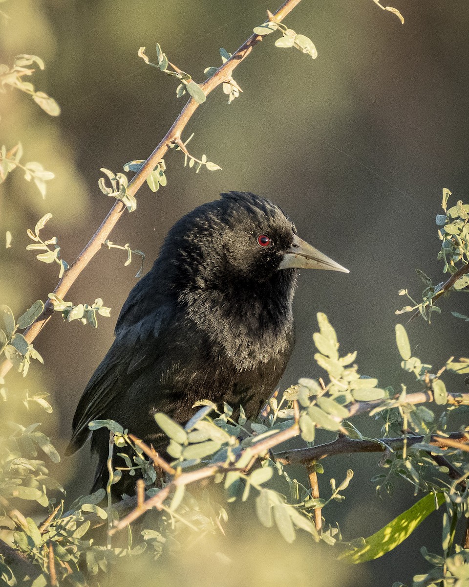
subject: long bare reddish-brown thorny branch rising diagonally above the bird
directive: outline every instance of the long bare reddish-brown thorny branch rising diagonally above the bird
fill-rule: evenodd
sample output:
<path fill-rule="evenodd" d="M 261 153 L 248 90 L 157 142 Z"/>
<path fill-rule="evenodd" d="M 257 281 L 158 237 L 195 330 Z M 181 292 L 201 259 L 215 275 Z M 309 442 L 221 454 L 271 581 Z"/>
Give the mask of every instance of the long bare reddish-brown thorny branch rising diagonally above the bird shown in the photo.
<path fill-rule="evenodd" d="M 287 0 L 282 6 L 280 6 L 280 8 L 278 8 L 276 12 L 274 12 L 273 16 L 271 16 L 271 19 L 276 22 L 283 21 L 283 19 L 295 8 L 297 4 L 300 3 L 300 1 L 301 0 Z M 262 39 L 263 37 L 261 35 L 251 35 L 249 39 L 247 39 L 247 41 L 245 41 L 243 45 L 241 45 L 240 48 L 235 53 L 233 53 L 230 59 L 223 63 L 223 65 L 220 66 L 220 68 L 218 68 L 216 72 L 211 77 L 209 77 L 209 79 L 200 84 L 203 93 L 208 96 L 209 93 L 212 92 L 217 86 L 225 82 L 225 80 L 232 75 L 237 66 L 244 59 L 246 59 L 249 53 L 253 50 L 254 46 L 256 46 L 257 43 L 260 43 Z M 154 170 L 159 161 L 161 161 L 161 159 L 165 156 L 169 145 L 181 138 L 182 131 L 185 129 L 186 124 L 189 122 L 192 114 L 195 112 L 198 106 L 198 102 L 196 102 L 191 97 L 183 107 L 175 122 L 172 124 L 171 128 L 165 134 L 164 138 L 158 144 L 157 148 L 148 157 L 147 161 L 145 161 L 135 176 L 132 177 L 132 180 L 127 187 L 127 191 L 130 195 L 135 195 L 135 193 L 137 193 L 140 187 L 145 183 L 145 180 L 149 174 Z M 108 212 L 106 218 L 104 218 L 101 226 L 98 228 L 94 236 L 91 238 L 83 251 L 81 251 L 73 264 L 70 265 L 70 268 L 64 273 L 62 279 L 60 279 L 59 283 L 53 291 L 55 295 L 64 299 L 65 295 L 73 285 L 74 281 L 80 275 L 81 271 L 83 271 L 94 255 L 96 255 L 96 253 L 103 246 L 104 241 L 106 241 L 111 230 L 113 230 L 115 224 L 117 224 L 117 221 L 121 217 L 121 214 L 124 212 L 124 210 L 125 205 L 120 200 L 115 201 L 113 207 Z M 42 314 L 23 333 L 29 343 L 32 342 L 36 336 L 38 336 L 40 330 L 42 330 L 47 321 L 49 321 L 52 313 L 53 305 L 50 299 L 48 299 Z M 12 363 L 8 359 L 5 359 L 0 366 L 0 377 L 4 377 L 11 369 L 11 367 Z"/>

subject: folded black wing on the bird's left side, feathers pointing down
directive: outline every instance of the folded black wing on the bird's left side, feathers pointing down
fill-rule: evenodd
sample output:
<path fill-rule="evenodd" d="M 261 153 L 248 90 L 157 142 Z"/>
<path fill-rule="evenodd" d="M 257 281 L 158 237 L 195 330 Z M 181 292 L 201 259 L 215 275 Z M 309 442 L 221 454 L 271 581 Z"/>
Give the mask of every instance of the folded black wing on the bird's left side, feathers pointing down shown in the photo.
<path fill-rule="evenodd" d="M 106 408 L 125 392 L 140 370 L 157 360 L 155 350 L 162 348 L 157 340 L 164 336 L 163 324 L 168 315 L 167 306 L 129 326 L 121 326 L 106 356 L 91 376 L 73 417 L 73 434 L 65 454 L 76 453 L 86 442 L 88 424 L 101 419 Z"/>

